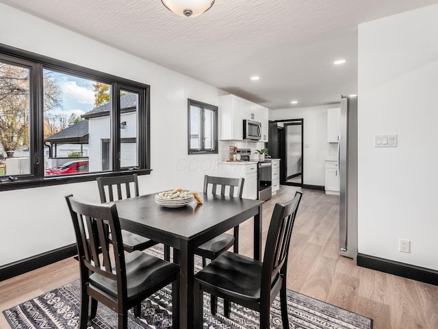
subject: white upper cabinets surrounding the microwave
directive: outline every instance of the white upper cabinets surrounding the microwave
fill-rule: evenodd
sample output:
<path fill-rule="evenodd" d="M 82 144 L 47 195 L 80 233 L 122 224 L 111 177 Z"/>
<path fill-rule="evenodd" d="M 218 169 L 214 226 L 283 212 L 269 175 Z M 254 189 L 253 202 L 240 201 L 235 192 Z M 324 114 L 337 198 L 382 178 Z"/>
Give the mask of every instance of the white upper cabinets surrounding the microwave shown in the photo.
<path fill-rule="evenodd" d="M 220 140 L 242 140 L 244 120 L 261 122 L 260 141 L 268 141 L 268 108 L 235 95 L 219 97 Z"/>

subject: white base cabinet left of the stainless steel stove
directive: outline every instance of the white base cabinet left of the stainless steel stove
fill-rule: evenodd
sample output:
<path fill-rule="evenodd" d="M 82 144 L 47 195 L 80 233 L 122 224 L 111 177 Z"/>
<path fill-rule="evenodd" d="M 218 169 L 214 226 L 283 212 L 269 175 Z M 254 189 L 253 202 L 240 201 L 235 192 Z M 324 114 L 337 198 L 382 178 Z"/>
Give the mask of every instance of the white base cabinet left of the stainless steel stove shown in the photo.
<path fill-rule="evenodd" d="M 218 176 L 244 178 L 242 197 L 257 200 L 257 162 L 220 162 Z"/>

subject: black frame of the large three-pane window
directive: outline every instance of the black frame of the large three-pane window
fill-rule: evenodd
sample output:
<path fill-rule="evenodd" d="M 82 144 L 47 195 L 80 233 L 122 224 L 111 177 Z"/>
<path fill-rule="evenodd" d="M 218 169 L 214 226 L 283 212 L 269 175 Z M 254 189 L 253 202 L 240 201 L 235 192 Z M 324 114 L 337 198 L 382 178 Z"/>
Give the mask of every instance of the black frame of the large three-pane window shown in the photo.
<path fill-rule="evenodd" d="M 77 64 L 56 60 L 37 53 L 31 53 L 8 45 L 0 44 L 0 62 L 23 66 L 29 69 L 29 161 L 30 174 L 17 175 L 12 180 L 3 176 L 0 178 L 0 191 L 34 188 L 57 184 L 70 184 L 96 180 L 97 177 L 110 175 L 127 175 L 151 173 L 151 86 L 88 69 Z M 112 156 L 112 171 L 81 173 L 78 175 L 44 176 L 44 86 L 43 69 L 49 69 L 84 79 L 109 84 L 111 88 L 110 151 L 118 156 Z M 120 90 L 138 93 L 138 167 L 120 168 Z"/>

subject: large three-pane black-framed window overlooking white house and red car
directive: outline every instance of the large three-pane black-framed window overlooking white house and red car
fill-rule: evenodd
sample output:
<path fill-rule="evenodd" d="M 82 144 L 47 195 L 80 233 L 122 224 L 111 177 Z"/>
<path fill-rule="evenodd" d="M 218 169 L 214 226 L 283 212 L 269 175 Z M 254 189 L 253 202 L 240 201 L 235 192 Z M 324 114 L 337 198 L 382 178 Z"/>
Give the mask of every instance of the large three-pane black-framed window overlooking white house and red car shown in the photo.
<path fill-rule="evenodd" d="M 150 173 L 149 118 L 146 84 L 0 45 L 0 190 Z"/>

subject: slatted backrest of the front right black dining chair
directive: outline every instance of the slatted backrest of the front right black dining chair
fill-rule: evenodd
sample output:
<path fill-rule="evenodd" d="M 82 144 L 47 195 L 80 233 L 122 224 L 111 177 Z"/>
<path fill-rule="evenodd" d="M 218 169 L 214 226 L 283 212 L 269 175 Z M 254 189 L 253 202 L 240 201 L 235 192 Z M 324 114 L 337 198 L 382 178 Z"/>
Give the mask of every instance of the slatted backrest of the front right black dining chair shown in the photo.
<path fill-rule="evenodd" d="M 302 193 L 296 192 L 294 199 L 275 205 L 263 256 L 261 287 L 270 287 L 287 264 L 292 228 L 301 197 Z"/>

